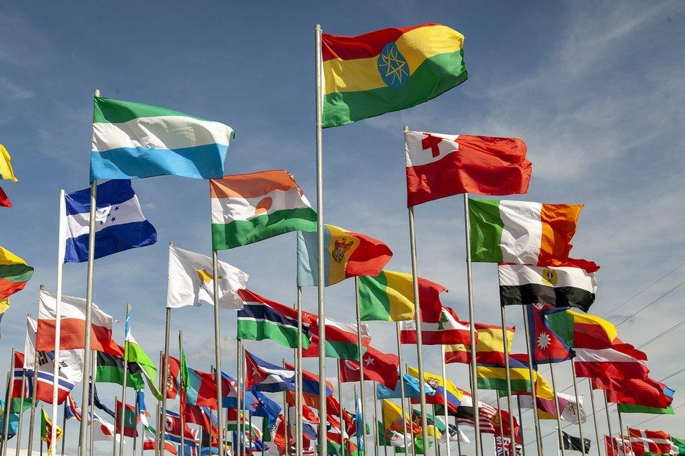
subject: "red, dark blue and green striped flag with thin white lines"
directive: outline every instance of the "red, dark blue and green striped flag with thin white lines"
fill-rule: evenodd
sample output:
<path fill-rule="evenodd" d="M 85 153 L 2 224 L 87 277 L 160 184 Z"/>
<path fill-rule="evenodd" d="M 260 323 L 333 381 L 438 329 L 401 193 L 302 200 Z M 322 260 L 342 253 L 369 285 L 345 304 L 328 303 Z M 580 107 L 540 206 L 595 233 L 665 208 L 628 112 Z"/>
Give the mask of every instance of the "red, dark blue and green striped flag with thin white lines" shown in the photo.
<path fill-rule="evenodd" d="M 237 339 L 270 339 L 290 348 L 310 345 L 307 337 L 308 319 L 302 313 L 302 332 L 298 332 L 298 311 L 276 301 L 271 301 L 248 289 L 238 292 L 243 308 L 238 311 Z"/>

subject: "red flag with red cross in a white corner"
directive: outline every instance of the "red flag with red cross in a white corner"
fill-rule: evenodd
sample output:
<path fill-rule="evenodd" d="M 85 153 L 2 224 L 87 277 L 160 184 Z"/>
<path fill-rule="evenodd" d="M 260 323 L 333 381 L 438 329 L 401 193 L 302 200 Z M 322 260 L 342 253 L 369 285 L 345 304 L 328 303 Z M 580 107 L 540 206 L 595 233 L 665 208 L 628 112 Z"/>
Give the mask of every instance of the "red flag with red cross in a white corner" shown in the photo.
<path fill-rule="evenodd" d="M 407 207 L 460 193 L 526 193 L 533 165 L 518 138 L 405 131 Z"/>

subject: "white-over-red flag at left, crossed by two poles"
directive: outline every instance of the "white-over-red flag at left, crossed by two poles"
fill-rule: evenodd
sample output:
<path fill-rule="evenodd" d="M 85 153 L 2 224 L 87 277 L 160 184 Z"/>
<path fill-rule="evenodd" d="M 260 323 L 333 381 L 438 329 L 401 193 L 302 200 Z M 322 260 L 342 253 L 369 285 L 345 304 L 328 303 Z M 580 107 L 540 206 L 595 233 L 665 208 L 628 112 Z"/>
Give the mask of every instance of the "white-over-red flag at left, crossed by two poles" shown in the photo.
<path fill-rule="evenodd" d="M 40 290 L 38 299 L 38 336 L 36 349 L 53 351 L 55 349 L 55 323 L 57 299 L 55 295 Z M 60 324 L 60 350 L 84 348 L 86 337 L 86 300 L 62 296 Z M 93 328 L 91 348 L 110 355 L 124 356 L 124 351 L 112 339 L 112 315 L 102 312 L 93 304 Z"/>

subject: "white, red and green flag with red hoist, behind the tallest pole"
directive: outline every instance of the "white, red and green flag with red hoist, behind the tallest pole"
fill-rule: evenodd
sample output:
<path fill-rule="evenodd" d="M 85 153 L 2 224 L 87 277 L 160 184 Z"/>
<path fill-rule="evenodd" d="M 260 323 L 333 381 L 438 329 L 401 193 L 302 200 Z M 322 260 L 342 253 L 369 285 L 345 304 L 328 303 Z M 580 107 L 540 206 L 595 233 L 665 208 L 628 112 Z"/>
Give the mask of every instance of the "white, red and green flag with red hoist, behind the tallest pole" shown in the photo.
<path fill-rule="evenodd" d="M 326 318 L 326 357 L 340 360 L 359 360 L 359 342 L 357 337 L 357 325 L 352 323 L 340 323 Z M 319 356 L 319 319 L 312 320 L 310 324 L 310 346 L 302 351 L 304 358 L 316 358 Z M 361 323 L 361 355 L 366 353 L 366 347 L 371 343 L 371 334 L 368 325 Z"/>

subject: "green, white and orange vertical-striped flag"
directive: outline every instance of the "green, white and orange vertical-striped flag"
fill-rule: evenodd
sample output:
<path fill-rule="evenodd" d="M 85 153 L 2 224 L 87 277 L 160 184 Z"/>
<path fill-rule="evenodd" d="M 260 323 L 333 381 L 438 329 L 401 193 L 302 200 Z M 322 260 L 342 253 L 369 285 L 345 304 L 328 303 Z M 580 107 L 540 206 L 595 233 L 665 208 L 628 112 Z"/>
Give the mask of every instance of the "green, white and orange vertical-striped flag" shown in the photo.
<path fill-rule="evenodd" d="M 471 259 L 561 266 L 568 260 L 582 207 L 469 198 Z"/>

